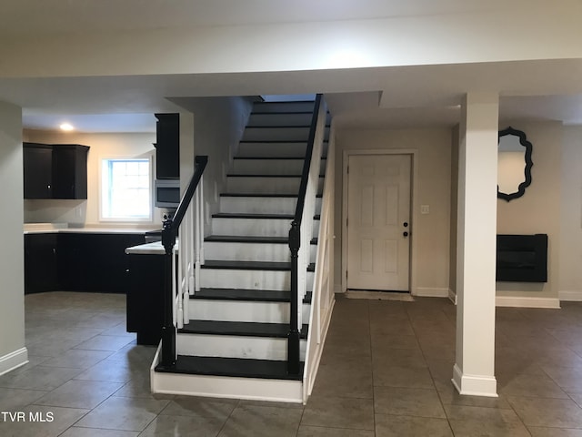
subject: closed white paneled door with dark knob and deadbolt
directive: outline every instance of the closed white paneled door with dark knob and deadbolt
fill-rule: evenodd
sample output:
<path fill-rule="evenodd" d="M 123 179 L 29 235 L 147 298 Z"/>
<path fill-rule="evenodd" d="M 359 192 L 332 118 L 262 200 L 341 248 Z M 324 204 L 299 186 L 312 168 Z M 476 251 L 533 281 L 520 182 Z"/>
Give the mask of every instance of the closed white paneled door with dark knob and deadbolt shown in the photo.
<path fill-rule="evenodd" d="M 408 291 L 410 155 L 350 155 L 347 288 Z"/>

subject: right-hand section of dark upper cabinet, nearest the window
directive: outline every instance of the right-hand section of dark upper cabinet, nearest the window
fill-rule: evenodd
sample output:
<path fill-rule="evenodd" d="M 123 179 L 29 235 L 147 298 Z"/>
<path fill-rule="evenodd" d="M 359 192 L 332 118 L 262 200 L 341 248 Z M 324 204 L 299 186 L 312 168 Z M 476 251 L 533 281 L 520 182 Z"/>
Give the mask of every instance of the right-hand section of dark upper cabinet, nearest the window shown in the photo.
<path fill-rule="evenodd" d="M 87 151 L 80 145 L 53 148 L 53 198 L 87 198 Z"/>

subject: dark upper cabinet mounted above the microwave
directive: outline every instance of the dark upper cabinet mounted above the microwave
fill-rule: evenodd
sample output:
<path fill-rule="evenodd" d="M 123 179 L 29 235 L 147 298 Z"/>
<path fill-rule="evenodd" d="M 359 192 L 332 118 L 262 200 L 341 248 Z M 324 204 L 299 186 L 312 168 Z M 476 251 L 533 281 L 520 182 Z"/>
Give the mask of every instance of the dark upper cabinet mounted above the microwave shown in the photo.
<path fill-rule="evenodd" d="M 156 178 L 180 178 L 180 116 L 156 114 Z"/>

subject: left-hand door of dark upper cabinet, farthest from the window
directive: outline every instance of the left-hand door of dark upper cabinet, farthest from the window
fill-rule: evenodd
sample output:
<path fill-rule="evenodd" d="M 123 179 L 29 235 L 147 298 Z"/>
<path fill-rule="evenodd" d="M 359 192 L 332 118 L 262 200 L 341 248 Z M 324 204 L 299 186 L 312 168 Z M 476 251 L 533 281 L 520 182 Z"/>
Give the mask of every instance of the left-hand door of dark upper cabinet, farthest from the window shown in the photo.
<path fill-rule="evenodd" d="M 53 147 L 25 143 L 23 148 L 25 198 L 52 198 Z"/>

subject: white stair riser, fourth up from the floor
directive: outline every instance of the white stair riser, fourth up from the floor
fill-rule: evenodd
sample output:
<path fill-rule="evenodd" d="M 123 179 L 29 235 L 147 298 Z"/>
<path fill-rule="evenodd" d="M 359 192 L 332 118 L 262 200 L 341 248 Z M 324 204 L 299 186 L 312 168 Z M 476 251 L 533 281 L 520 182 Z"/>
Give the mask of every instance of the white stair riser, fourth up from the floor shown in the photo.
<path fill-rule="evenodd" d="M 307 274 L 307 290 L 313 286 L 313 272 Z M 208 289 L 289 290 L 288 270 L 202 269 L 200 286 Z"/>

